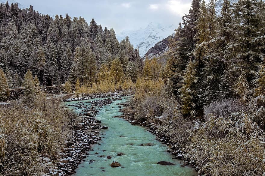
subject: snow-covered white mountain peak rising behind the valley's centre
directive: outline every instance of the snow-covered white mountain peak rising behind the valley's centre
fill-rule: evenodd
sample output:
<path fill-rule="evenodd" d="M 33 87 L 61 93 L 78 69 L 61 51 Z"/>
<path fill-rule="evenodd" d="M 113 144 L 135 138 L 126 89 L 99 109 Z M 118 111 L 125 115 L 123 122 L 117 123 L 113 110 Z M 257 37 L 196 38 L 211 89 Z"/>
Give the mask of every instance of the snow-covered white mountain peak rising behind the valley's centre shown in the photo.
<path fill-rule="evenodd" d="M 163 26 L 157 22 L 151 22 L 145 28 L 135 31 L 122 31 L 117 34 L 119 41 L 129 36 L 130 42 L 135 48 L 139 47 L 139 53 L 143 57 L 145 53 L 160 40 L 174 33 L 176 26 Z"/>

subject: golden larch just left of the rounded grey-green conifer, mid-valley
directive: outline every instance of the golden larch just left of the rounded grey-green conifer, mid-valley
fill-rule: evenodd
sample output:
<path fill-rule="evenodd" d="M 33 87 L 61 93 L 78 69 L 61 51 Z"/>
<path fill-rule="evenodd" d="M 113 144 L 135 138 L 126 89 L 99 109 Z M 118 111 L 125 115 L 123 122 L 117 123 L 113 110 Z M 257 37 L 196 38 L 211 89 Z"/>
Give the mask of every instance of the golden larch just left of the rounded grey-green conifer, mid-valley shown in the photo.
<path fill-rule="evenodd" d="M 123 78 L 124 73 L 123 73 L 122 64 L 119 58 L 116 58 L 112 61 L 110 76 L 114 78 L 116 84 Z"/>

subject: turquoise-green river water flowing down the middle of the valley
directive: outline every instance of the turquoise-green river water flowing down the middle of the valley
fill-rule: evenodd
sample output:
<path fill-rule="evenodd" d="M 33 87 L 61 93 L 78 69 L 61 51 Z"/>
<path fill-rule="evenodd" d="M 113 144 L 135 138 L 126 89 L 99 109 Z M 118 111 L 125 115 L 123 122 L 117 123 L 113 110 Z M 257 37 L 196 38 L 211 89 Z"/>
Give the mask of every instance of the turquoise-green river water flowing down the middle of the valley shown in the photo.
<path fill-rule="evenodd" d="M 98 99 L 92 99 L 98 100 Z M 181 167 L 181 160 L 172 159 L 173 155 L 167 153 L 167 146 L 155 140 L 155 135 L 149 133 L 147 128 L 129 124 L 122 118 L 113 118 L 120 115 L 119 105 L 126 99 L 118 100 L 108 106 L 103 106 L 97 115 L 97 119 L 109 127 L 100 130 L 102 140 L 94 147 L 94 151 L 89 151 L 89 155 L 84 162 L 76 169 L 75 176 L 124 176 L 124 175 L 151 175 L 151 176 L 190 176 L 197 175 L 195 170 L 189 166 Z M 87 102 L 89 101 L 82 101 Z M 75 102 L 67 102 L 72 104 Z M 69 106 L 68 106 L 69 107 Z M 76 112 L 82 109 L 74 108 Z M 122 136 L 122 137 L 120 137 Z M 153 143 L 153 146 L 140 146 L 141 144 Z M 100 144 L 100 145 L 99 145 Z M 98 154 L 95 154 L 98 153 Z M 122 156 L 117 156 L 123 153 Z M 103 155 L 104 157 L 99 157 Z M 111 159 L 107 159 L 107 156 Z M 95 160 L 89 162 L 90 160 Z M 121 167 L 111 167 L 110 164 L 117 161 Z M 169 161 L 175 163 L 174 166 L 163 166 L 157 164 L 159 161 Z"/>

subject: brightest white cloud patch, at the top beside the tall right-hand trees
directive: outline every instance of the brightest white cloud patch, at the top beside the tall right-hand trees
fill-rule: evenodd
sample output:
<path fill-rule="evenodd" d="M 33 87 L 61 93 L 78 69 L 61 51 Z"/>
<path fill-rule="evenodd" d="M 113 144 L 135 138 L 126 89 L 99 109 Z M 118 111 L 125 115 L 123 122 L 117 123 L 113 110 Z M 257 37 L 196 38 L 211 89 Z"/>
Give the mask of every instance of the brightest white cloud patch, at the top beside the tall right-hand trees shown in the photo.
<path fill-rule="evenodd" d="M 171 13 L 178 16 L 183 16 L 184 13 L 189 12 L 189 9 L 191 8 L 191 2 L 184 3 L 183 1 L 181 2 L 180 0 L 172 0 L 172 1 L 167 1 L 166 6 Z"/>

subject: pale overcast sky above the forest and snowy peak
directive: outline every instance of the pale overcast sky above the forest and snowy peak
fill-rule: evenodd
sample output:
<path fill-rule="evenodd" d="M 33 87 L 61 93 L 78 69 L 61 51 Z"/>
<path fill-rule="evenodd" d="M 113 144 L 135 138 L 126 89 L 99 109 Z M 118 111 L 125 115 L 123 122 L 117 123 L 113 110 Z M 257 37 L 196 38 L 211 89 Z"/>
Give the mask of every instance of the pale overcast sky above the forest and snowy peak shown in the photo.
<path fill-rule="evenodd" d="M 25 7 L 50 15 L 82 16 L 92 18 L 103 27 L 114 28 L 116 33 L 146 27 L 149 22 L 165 26 L 178 25 L 188 13 L 191 0 L 17 0 Z"/>

